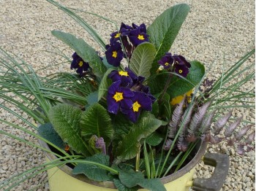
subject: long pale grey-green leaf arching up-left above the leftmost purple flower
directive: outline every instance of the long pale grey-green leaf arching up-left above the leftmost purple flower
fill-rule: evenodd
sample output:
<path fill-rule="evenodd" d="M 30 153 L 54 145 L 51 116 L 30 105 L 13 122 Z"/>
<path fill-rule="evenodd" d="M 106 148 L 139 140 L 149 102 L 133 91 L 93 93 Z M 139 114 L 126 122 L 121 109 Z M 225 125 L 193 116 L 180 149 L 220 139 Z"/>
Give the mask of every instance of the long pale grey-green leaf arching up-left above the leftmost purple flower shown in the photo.
<path fill-rule="evenodd" d="M 52 31 L 51 33 L 72 48 L 72 50 L 75 50 L 83 58 L 83 61 L 89 63 L 95 75 L 102 77 L 105 74 L 107 69 L 100 60 L 98 53 L 83 39 L 78 39 L 74 35 L 62 31 Z"/>

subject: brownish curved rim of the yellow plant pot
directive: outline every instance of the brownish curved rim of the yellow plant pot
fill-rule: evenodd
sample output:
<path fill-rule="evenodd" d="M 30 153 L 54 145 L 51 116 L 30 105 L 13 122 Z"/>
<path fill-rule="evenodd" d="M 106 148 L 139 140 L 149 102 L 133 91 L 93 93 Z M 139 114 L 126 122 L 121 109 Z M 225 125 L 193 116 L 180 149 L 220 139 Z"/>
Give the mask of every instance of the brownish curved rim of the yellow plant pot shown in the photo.
<path fill-rule="evenodd" d="M 49 149 L 48 144 L 45 143 L 45 141 L 39 140 L 39 144 L 44 147 L 45 149 Z M 207 147 L 207 142 L 206 141 L 200 141 L 200 146 L 197 150 L 197 153 L 195 155 L 195 157 L 193 157 L 192 160 L 189 161 L 189 163 L 187 163 L 187 165 L 185 165 L 183 168 L 181 168 L 180 170 L 176 171 L 173 174 L 170 174 L 168 176 L 165 176 L 163 178 L 161 178 L 161 182 L 162 184 L 166 184 L 167 182 L 172 182 L 178 178 L 180 178 L 181 176 L 184 176 L 184 174 L 187 174 L 189 171 L 192 170 L 192 168 L 195 167 L 195 165 L 197 165 L 199 163 L 199 161 L 202 159 L 203 155 L 206 152 L 206 147 Z M 49 153 L 49 152 L 45 152 L 45 155 L 48 157 L 49 160 L 56 160 L 56 156 Z M 89 184 L 94 184 L 96 186 L 99 187 L 108 187 L 108 188 L 116 188 L 115 185 L 113 184 L 113 182 L 110 181 L 105 181 L 105 182 L 96 182 L 96 181 L 92 181 L 90 179 L 88 179 L 86 176 L 84 176 L 83 174 L 72 174 L 72 168 L 70 168 L 67 165 L 63 165 L 61 167 L 59 167 L 59 169 L 61 171 L 63 171 L 64 173 L 68 174 L 69 176 L 74 177 L 75 179 L 78 179 L 82 182 L 87 182 Z"/>

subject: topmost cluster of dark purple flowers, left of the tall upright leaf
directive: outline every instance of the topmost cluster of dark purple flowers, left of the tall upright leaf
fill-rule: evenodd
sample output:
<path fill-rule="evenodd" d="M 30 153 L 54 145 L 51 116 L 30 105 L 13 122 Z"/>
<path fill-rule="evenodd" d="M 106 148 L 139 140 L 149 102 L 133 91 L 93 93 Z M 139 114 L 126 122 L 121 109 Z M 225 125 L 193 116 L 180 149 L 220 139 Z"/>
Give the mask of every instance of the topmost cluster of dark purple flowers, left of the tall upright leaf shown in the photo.
<path fill-rule="evenodd" d="M 110 36 L 110 44 L 106 46 L 105 55 L 108 63 L 113 66 L 120 66 L 124 57 L 131 58 L 135 47 L 142 42 L 148 42 L 144 23 L 140 26 L 135 25 L 135 23 L 132 23 L 132 26 L 121 23 L 119 31 L 110 34 Z M 123 44 L 125 50 L 122 50 L 121 44 Z"/>

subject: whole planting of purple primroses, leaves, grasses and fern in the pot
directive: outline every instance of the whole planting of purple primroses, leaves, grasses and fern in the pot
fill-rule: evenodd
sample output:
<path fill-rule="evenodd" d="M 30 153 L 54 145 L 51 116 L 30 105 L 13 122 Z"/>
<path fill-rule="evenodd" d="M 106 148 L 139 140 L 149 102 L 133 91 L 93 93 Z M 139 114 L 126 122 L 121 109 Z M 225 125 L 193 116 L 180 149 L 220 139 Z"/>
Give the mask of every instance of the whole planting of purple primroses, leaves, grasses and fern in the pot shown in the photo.
<path fill-rule="evenodd" d="M 72 34 L 52 31 L 73 50 L 64 58 L 74 72 L 49 77 L 38 77 L 24 61 L 20 63 L 1 50 L 5 73 L 0 76 L 0 98 L 28 114 L 38 127 L 4 104 L 1 107 L 38 134 L 6 123 L 45 141 L 51 149 L 45 152 L 57 157 L 54 165 L 68 164 L 73 174 L 94 181 L 112 181 L 118 190 L 165 190 L 159 178 L 186 165 L 195 155 L 193 148 L 202 141 L 226 141 L 241 155 L 253 149 L 252 125 L 232 117 L 236 105 L 227 104 L 250 106 L 241 98 L 253 98 L 254 94 L 241 93 L 239 87 L 253 78 L 254 71 L 244 70 L 251 74 L 236 85 L 229 82 L 255 50 L 212 81 L 205 77 L 202 63 L 170 51 L 189 13 L 187 4 L 170 7 L 150 26 L 115 25 L 116 31 L 110 31 L 105 44 L 75 12 L 48 1 L 78 21 L 102 48 L 94 50 Z M 15 179 L 26 173 L 29 171 Z"/>

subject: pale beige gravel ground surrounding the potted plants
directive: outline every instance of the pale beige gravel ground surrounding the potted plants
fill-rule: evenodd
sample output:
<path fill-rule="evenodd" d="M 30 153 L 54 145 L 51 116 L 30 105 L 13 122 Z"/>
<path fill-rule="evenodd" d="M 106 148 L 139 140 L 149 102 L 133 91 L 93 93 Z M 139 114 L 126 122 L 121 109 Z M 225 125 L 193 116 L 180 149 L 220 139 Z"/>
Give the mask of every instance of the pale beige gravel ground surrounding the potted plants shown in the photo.
<path fill-rule="evenodd" d="M 225 54 L 225 68 L 238 61 L 252 47 L 255 47 L 255 3 L 250 0 L 203 0 L 186 1 L 191 6 L 191 11 L 171 52 L 184 55 L 189 60 L 198 60 L 206 63 L 206 68 L 211 66 L 209 75 L 218 77 L 221 74 L 223 56 Z M 163 10 L 183 1 L 146 1 L 146 0 L 61 0 L 67 7 L 79 8 L 89 12 L 116 20 L 130 23 L 146 23 L 148 26 Z M 60 63 L 60 58 L 45 50 L 54 51 L 53 46 L 71 55 L 72 51 L 61 44 L 50 31 L 59 29 L 67 31 L 86 39 L 96 50 L 99 50 L 91 37 L 80 28 L 75 21 L 65 15 L 61 10 L 51 6 L 46 1 L 37 0 L 0 0 L 0 46 L 5 50 L 14 52 L 30 63 L 34 69 L 42 69 Z M 89 20 L 101 36 L 108 36 L 115 31 L 113 26 L 91 15 L 83 15 Z M 251 58 L 246 64 L 254 63 Z M 211 65 L 211 63 L 213 63 Z M 38 74 L 50 74 L 53 71 L 67 70 L 69 65 L 59 65 L 50 70 L 40 70 Z M 254 87 L 255 82 L 247 83 L 244 88 Z M 11 109 L 14 109 L 11 106 Z M 255 109 L 237 109 L 233 111 L 236 116 L 255 121 Z M 0 110 L 1 119 L 10 120 L 23 125 L 20 120 Z M 29 128 L 29 127 L 26 127 Z M 254 128 L 254 127 L 253 127 Z M 33 137 L 14 130 L 7 125 L 0 124 L 0 130 L 13 133 L 28 141 L 37 140 Z M 230 171 L 222 190 L 255 190 L 255 152 L 246 153 L 243 157 L 236 154 L 234 149 L 225 145 L 208 147 L 208 152 L 222 152 L 230 156 Z M 44 161 L 39 149 L 29 147 L 18 141 L 0 136 L 0 181 L 13 174 L 25 171 Z M 197 177 L 208 177 L 213 168 L 208 168 L 203 163 L 197 166 Z M 48 190 L 45 181 L 46 174 L 39 174 L 33 179 L 20 184 L 13 190 Z"/>

